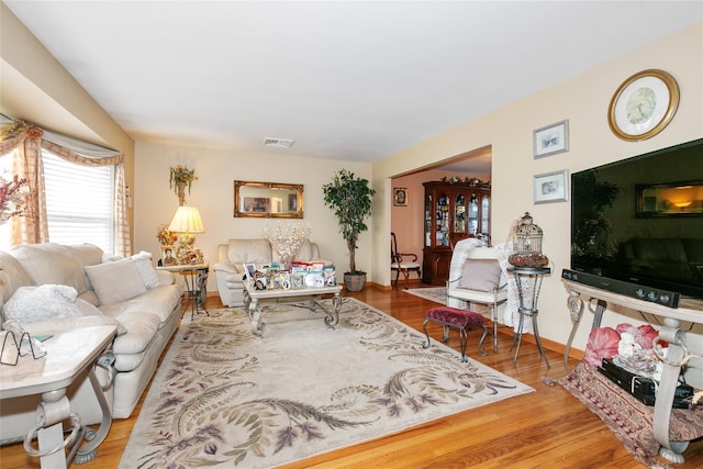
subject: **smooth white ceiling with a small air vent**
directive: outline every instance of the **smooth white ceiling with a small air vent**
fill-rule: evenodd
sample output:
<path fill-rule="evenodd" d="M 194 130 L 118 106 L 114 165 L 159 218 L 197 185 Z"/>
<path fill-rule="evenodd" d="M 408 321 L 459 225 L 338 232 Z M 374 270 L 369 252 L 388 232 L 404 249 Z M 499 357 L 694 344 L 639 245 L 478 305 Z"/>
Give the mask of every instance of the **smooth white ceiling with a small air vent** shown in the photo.
<path fill-rule="evenodd" d="M 3 2 L 134 139 L 361 161 L 703 21 L 701 1 Z"/>

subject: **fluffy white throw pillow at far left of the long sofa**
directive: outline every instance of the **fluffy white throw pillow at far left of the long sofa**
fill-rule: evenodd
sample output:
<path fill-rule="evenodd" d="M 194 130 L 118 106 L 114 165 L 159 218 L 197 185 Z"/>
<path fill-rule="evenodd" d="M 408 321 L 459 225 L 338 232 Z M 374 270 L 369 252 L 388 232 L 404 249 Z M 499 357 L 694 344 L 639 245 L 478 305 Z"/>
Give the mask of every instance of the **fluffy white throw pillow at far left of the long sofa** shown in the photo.
<path fill-rule="evenodd" d="M 77 317 L 81 313 L 74 304 L 78 292 L 65 284 L 20 287 L 3 308 L 5 321 L 29 324 L 55 317 Z"/>

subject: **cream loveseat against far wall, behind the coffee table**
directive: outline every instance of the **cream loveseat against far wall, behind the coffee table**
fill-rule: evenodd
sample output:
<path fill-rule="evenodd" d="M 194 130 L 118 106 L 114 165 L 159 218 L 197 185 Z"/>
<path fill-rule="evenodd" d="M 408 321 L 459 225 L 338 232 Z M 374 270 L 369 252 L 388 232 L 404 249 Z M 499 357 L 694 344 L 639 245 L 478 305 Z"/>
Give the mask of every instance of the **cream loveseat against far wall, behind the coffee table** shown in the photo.
<path fill-rule="evenodd" d="M 308 241 L 293 260 L 320 260 L 320 248 Z M 267 239 L 230 239 L 226 244 L 217 245 L 217 264 L 213 270 L 222 304 L 228 308 L 244 304 L 244 264 L 279 261 L 280 256 Z"/>

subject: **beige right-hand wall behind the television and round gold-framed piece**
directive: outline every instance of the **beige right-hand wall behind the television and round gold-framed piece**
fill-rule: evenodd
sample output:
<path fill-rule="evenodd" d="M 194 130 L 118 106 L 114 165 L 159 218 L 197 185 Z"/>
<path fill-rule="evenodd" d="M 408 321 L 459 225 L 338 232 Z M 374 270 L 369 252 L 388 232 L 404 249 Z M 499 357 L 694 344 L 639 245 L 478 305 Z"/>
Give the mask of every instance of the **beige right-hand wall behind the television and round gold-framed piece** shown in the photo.
<path fill-rule="evenodd" d="M 648 68 L 661 68 L 677 79 L 681 89 L 679 110 L 659 135 L 637 143 L 621 141 L 607 125 L 610 100 L 627 77 Z M 565 119 L 569 120 L 570 150 L 534 159 L 533 131 Z M 381 252 L 390 231 L 390 216 L 387 216 L 390 199 L 383 193 L 390 187 L 390 178 L 437 159 L 491 145 L 493 242 L 503 241 L 511 222 L 525 211 L 529 211 L 535 223 L 542 226 L 544 252 L 551 259 L 554 272 L 542 288 L 539 327 L 544 337 L 565 344 L 571 322 L 566 308 L 568 293 L 560 272 L 569 267 L 570 205 L 568 202 L 535 205 L 533 176 L 561 169 L 578 171 L 700 137 L 703 137 L 701 23 L 375 164 L 373 183 L 381 191 L 376 202 L 380 206 L 373 220 L 375 271 L 383 278 L 388 270 L 382 263 L 388 256 L 382 256 Z M 383 210 L 384 204 L 387 210 Z M 587 324 L 581 326 L 574 343 L 580 349 L 585 346 L 591 321 L 591 314 L 584 314 Z M 634 312 L 624 311 L 624 315 L 607 315 L 604 324 L 634 322 L 635 317 Z"/>

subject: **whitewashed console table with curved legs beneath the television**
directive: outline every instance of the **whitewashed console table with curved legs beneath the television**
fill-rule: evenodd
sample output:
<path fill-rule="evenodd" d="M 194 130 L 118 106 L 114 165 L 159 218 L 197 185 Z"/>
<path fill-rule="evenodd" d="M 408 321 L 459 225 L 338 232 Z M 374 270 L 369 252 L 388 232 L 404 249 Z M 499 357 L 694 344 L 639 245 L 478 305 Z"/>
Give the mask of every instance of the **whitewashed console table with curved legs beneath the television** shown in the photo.
<path fill-rule="evenodd" d="M 662 457 L 672 462 L 683 462 L 684 458 L 682 453 L 688 448 L 689 442 L 669 440 L 671 405 L 673 404 L 673 394 L 681 372 L 681 366 L 678 364 L 681 362 L 684 355 L 688 354 L 685 332 L 681 331 L 680 327 L 682 321 L 703 323 L 703 301 L 682 299 L 679 302 L 679 308 L 668 308 L 571 280 L 562 279 L 562 281 L 569 291 L 568 306 L 573 324 L 563 353 L 563 366 L 567 370 L 569 369 L 568 359 L 571 343 L 573 342 L 583 313 L 584 302 L 581 299 L 582 295 L 589 299 L 589 310 L 593 313 L 591 330 L 601 326 L 601 320 L 603 319 L 603 313 L 606 311 L 607 303 L 663 317 L 663 325 L 659 331 L 659 337 L 669 343 L 669 349 L 667 351 L 667 361 L 663 362 L 663 372 L 655 403 L 654 434 L 657 442 L 661 445 L 659 453 Z M 593 309 L 592 300 L 596 301 L 595 309 Z"/>

